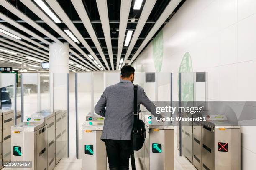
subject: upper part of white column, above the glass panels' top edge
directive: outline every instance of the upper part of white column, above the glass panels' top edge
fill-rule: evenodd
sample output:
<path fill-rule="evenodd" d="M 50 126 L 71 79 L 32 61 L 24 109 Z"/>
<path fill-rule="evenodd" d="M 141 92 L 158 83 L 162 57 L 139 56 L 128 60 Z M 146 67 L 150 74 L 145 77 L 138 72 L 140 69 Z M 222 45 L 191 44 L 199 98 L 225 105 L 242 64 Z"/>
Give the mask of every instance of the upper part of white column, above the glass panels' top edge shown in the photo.
<path fill-rule="evenodd" d="M 50 44 L 50 73 L 69 73 L 69 44 Z"/>

